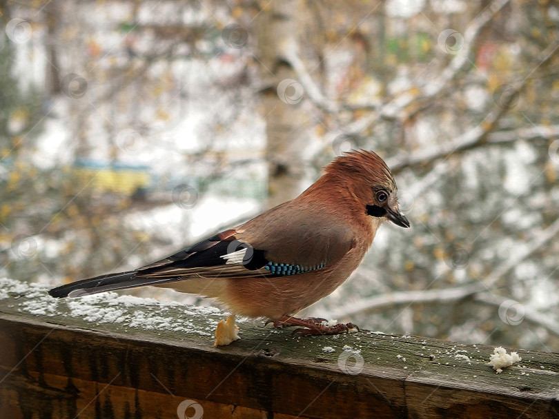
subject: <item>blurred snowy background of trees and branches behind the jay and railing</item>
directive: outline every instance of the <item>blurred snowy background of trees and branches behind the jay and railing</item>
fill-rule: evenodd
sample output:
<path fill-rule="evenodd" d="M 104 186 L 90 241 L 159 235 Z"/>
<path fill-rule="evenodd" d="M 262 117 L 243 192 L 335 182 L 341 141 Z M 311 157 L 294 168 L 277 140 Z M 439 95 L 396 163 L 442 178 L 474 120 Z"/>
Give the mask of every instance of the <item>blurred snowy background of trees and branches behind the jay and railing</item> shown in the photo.
<path fill-rule="evenodd" d="M 0 0 L 0 277 L 150 263 L 364 148 L 412 228 L 303 315 L 557 351 L 558 25 L 545 0 Z"/>

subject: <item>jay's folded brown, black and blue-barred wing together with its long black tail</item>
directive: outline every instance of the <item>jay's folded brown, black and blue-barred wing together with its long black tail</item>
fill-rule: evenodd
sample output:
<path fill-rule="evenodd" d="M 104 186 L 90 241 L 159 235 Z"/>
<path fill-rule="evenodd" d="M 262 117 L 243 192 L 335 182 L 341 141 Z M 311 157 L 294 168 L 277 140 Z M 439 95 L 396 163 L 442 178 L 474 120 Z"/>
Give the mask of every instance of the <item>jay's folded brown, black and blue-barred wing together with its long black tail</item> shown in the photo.
<path fill-rule="evenodd" d="M 280 220 L 270 216 L 280 216 Z M 294 221 L 268 211 L 135 271 L 63 285 L 50 295 L 76 297 L 195 277 L 273 278 L 326 269 L 355 247 L 355 238 L 351 229 L 329 225 L 331 220 L 323 218 Z"/>

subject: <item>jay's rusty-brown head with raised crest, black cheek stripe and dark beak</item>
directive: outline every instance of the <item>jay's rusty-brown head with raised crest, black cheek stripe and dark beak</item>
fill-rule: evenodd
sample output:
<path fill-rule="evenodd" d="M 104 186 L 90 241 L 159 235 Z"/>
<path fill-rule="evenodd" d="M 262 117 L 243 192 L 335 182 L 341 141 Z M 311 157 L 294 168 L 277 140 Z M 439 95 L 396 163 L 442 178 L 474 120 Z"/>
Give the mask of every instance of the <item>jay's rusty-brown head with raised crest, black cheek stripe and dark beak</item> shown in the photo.
<path fill-rule="evenodd" d="M 369 216 L 386 218 L 395 225 L 410 226 L 400 214 L 398 188 L 386 163 L 374 152 L 348 152 L 326 167 L 326 174 L 344 181 L 348 192 Z"/>

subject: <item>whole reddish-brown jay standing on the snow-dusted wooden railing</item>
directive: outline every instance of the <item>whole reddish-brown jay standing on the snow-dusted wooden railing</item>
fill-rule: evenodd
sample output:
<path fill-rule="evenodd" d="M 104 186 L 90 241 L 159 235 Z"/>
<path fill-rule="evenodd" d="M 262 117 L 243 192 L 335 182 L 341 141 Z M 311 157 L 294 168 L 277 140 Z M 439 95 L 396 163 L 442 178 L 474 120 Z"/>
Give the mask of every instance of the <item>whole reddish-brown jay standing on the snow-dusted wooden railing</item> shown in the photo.
<path fill-rule="evenodd" d="M 278 328 L 297 326 L 304 336 L 358 331 L 353 323 L 295 315 L 349 278 L 385 221 L 410 227 L 391 171 L 375 152 L 353 150 L 326 165 L 300 196 L 246 223 L 155 263 L 78 280 L 49 294 L 75 298 L 152 285 L 214 298 L 233 312 L 219 323 L 215 345 L 239 338 L 235 315 L 266 318 L 266 325 Z"/>

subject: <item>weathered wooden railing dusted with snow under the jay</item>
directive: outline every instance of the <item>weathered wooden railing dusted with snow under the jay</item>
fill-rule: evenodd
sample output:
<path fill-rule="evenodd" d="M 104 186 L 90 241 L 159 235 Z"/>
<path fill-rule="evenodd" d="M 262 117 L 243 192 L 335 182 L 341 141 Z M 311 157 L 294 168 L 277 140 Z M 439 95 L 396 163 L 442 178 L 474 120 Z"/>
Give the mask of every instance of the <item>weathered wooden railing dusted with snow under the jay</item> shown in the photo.
<path fill-rule="evenodd" d="M 496 374 L 493 347 L 259 322 L 215 348 L 215 309 L 45 291 L 0 280 L 1 418 L 173 418 L 183 400 L 206 418 L 559 416 L 558 354 L 518 350 Z"/>

